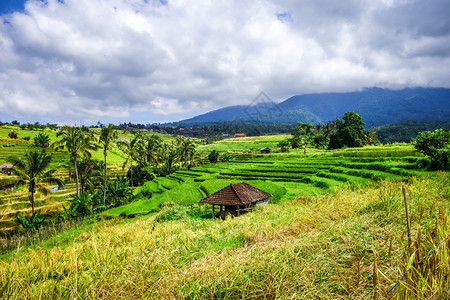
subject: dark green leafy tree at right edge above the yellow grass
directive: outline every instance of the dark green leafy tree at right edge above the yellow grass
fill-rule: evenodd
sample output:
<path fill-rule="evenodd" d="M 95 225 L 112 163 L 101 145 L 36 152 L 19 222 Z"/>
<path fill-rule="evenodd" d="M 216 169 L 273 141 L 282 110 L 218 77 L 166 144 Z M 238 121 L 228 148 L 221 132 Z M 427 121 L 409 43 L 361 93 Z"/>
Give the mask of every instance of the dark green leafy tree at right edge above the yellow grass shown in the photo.
<path fill-rule="evenodd" d="M 414 140 L 414 147 L 431 158 L 433 169 L 450 169 L 450 130 L 424 131 Z"/>

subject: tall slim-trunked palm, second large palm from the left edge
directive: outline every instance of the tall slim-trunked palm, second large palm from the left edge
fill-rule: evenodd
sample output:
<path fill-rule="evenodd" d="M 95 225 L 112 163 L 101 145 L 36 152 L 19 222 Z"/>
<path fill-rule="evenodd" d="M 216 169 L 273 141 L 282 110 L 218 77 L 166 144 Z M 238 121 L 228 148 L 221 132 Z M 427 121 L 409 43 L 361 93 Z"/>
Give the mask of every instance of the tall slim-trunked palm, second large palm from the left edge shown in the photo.
<path fill-rule="evenodd" d="M 55 142 L 53 147 L 55 149 L 62 149 L 65 147 L 72 156 L 75 170 L 77 196 L 80 196 L 77 167 L 78 153 L 82 152 L 86 156 L 90 156 L 89 150 L 97 149 L 98 146 L 94 143 L 94 135 L 86 127 L 64 126 L 56 133 L 56 136 L 62 136 L 62 138 Z"/>

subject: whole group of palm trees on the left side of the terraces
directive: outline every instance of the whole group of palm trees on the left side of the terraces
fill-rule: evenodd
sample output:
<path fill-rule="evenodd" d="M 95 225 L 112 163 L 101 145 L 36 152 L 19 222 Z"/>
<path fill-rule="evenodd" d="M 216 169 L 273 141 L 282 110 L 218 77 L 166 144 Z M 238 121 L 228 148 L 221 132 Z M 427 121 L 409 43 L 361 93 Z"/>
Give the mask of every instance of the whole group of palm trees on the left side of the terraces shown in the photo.
<path fill-rule="evenodd" d="M 131 140 L 118 140 L 118 131 L 112 124 L 103 126 L 98 137 L 87 127 L 71 126 L 62 127 L 56 136 L 59 139 L 51 148 L 70 154 L 70 160 L 56 168 L 48 170 L 52 155 L 46 151 L 50 139 L 44 133 L 35 139 L 36 146 L 41 149 L 28 151 L 22 157 L 8 158 L 15 167 L 16 176 L 3 181 L 2 185 L 25 185 L 32 207 L 31 217 L 18 215 L 24 227 L 35 228 L 42 223 L 44 217 L 35 211 L 35 194 L 38 191 L 48 194 L 49 184 L 56 184 L 59 188 L 64 186 L 66 182 L 55 176 L 61 167 L 69 168 L 69 180 L 73 177 L 76 185 L 76 195 L 69 200 L 70 207 L 64 207 L 64 213 L 78 217 L 129 202 L 132 196 L 130 186 L 141 185 L 180 168 L 188 170 L 201 163 L 195 144 L 184 137 L 165 142 L 157 135 L 138 132 Z M 122 168 L 128 171 L 124 178 L 108 180 L 107 155 L 114 144 L 125 157 Z M 92 151 L 100 149 L 103 161 L 92 159 Z"/>

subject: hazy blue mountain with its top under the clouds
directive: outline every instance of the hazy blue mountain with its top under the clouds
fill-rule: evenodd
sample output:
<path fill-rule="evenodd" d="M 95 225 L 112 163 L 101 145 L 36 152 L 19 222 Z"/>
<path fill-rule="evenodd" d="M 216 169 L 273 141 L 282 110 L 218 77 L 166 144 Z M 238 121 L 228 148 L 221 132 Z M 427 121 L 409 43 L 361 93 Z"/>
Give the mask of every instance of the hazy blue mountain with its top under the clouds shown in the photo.
<path fill-rule="evenodd" d="M 450 89 L 407 88 L 390 90 L 366 88 L 348 93 L 296 95 L 274 104 L 261 102 L 254 106 L 229 106 L 177 124 L 205 124 L 233 121 L 252 123 L 313 124 L 335 120 L 354 111 L 363 117 L 367 127 L 404 122 L 450 120 Z"/>

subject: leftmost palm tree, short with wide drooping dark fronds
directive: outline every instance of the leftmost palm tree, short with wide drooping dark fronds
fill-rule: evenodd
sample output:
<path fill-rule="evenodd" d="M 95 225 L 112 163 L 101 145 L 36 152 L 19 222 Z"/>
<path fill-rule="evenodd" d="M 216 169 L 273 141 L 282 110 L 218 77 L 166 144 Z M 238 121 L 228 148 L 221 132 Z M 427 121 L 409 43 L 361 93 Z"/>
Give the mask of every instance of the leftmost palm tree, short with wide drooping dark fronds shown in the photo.
<path fill-rule="evenodd" d="M 49 190 L 43 183 L 64 185 L 62 179 L 53 176 L 55 169 L 45 171 L 52 161 L 52 156 L 45 151 L 32 151 L 25 153 L 25 157 L 10 157 L 8 161 L 15 166 L 14 173 L 17 176 L 15 185 L 28 186 L 28 197 L 34 215 L 34 194 L 36 190 L 47 195 Z"/>

